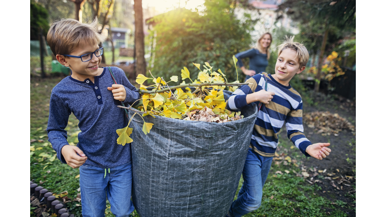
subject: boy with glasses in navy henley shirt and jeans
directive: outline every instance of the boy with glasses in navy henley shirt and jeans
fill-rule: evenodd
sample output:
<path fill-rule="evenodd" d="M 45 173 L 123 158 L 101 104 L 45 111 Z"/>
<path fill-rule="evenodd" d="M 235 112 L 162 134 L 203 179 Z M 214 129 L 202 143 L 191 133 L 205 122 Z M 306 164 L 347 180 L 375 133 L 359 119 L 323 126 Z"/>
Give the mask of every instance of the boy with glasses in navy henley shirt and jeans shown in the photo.
<path fill-rule="evenodd" d="M 107 68 L 99 68 L 104 41 L 98 33 L 98 20 L 82 24 L 73 19 L 54 22 L 47 42 L 60 64 L 72 74 L 53 89 L 48 118 L 48 141 L 62 163 L 79 168 L 82 215 L 105 216 L 106 196 L 116 216 L 134 211 L 131 146 L 118 145 L 117 129 L 127 126 L 121 102 L 133 103 L 138 90 L 122 69 L 111 67 L 118 84 Z M 68 145 L 68 117 L 79 120 L 79 143 Z"/>

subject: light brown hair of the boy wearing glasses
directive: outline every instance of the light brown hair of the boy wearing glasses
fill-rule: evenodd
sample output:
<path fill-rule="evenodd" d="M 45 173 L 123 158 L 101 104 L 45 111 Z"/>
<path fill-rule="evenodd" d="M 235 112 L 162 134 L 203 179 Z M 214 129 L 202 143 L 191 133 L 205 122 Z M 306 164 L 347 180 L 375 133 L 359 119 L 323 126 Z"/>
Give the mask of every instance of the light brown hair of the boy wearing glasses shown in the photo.
<path fill-rule="evenodd" d="M 55 21 L 47 33 L 47 43 L 54 55 L 70 54 L 81 43 L 100 44 L 106 37 L 98 32 L 98 19 L 90 24 L 80 23 L 74 19 Z"/>

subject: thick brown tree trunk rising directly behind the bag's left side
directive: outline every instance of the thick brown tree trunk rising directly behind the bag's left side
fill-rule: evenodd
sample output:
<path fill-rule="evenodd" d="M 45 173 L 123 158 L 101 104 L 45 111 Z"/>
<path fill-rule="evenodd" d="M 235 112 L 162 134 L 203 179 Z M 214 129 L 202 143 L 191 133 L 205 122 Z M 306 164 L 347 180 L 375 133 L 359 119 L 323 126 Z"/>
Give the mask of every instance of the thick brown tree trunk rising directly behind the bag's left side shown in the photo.
<path fill-rule="evenodd" d="M 134 0 L 134 19 L 135 19 L 135 56 L 136 67 L 135 74 L 137 77 L 139 74 L 146 75 L 146 62 L 145 62 L 145 44 L 143 34 L 143 18 L 142 18 L 142 0 Z"/>

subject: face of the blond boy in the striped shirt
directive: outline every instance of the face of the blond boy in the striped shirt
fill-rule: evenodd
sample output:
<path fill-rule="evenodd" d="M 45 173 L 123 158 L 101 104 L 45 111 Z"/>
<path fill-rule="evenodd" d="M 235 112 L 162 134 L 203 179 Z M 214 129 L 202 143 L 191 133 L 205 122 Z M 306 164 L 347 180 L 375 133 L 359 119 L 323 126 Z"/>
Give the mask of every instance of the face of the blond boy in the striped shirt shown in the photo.
<path fill-rule="evenodd" d="M 275 65 L 275 74 L 272 77 L 284 86 L 289 85 L 289 81 L 296 75 L 301 73 L 306 67 L 300 67 L 299 58 L 296 56 L 296 51 L 287 48 L 281 51 L 277 57 Z"/>

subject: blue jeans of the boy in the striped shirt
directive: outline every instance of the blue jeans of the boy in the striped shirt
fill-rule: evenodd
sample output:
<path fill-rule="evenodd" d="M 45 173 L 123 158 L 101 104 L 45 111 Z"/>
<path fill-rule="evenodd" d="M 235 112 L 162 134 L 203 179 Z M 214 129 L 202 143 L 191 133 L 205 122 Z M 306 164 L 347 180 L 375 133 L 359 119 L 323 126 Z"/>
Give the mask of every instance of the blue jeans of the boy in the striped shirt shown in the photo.
<path fill-rule="evenodd" d="M 243 169 L 244 183 L 232 202 L 228 215 L 239 217 L 256 210 L 261 205 L 263 186 L 271 168 L 273 157 L 263 157 L 250 148 Z"/>

